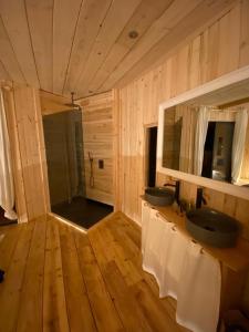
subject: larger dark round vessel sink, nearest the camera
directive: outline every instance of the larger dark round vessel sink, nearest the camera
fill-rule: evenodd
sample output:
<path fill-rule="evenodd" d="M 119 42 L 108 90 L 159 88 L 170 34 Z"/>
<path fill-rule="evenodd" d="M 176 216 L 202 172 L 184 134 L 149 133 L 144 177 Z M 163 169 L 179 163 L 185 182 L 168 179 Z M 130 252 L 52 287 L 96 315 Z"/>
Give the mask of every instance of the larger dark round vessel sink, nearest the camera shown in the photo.
<path fill-rule="evenodd" d="M 218 247 L 234 247 L 239 234 L 239 222 L 214 209 L 194 209 L 186 214 L 186 228 L 198 241 Z"/>

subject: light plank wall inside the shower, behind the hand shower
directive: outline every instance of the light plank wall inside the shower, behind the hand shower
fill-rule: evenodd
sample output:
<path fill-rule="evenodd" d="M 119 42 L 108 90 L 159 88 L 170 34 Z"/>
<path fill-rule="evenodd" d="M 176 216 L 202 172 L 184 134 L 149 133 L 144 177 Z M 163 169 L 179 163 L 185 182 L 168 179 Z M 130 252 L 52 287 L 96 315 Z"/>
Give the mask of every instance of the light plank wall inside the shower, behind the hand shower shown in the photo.
<path fill-rule="evenodd" d="M 97 201 L 114 204 L 114 91 L 77 101 L 83 108 L 83 153 L 85 165 L 86 197 Z M 91 165 L 93 157 L 94 186 L 91 187 Z M 104 168 L 98 168 L 98 160 Z"/>

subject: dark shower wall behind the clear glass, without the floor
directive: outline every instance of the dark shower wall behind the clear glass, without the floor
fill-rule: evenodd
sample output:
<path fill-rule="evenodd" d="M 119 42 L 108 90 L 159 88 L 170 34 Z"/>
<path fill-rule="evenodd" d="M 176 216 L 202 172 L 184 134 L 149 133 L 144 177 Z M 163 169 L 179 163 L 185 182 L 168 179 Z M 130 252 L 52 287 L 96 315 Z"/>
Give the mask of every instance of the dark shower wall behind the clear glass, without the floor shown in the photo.
<path fill-rule="evenodd" d="M 80 111 L 43 116 L 51 206 L 84 196 L 81 123 Z"/>

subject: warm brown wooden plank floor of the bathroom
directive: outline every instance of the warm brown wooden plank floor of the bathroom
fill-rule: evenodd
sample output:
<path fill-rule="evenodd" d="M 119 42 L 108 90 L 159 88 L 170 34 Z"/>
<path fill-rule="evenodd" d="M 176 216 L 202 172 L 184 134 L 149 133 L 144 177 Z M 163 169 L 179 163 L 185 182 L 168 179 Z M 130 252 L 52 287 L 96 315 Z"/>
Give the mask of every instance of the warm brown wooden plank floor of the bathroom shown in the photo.
<path fill-rule="evenodd" d="M 52 217 L 0 234 L 0 331 L 186 331 L 142 270 L 141 229 L 123 214 L 87 236 Z"/>

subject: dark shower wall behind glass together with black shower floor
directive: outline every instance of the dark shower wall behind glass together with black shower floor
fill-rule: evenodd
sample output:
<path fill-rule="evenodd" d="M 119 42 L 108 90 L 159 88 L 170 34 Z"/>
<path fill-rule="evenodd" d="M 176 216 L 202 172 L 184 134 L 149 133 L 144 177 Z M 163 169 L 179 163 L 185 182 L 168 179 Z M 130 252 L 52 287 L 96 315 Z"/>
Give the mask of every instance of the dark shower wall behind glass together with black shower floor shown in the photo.
<path fill-rule="evenodd" d="M 86 198 L 82 111 L 44 115 L 43 131 L 51 210 L 89 228 L 112 207 Z"/>

